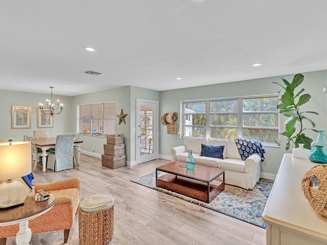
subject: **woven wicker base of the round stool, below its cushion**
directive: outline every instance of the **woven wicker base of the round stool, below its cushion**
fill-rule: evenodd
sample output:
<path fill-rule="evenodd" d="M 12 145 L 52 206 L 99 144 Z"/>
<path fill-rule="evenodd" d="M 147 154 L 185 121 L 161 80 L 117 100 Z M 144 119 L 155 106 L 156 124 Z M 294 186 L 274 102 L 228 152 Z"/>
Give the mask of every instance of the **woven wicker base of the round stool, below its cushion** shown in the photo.
<path fill-rule="evenodd" d="M 106 245 L 113 235 L 113 206 L 110 208 L 87 213 L 78 211 L 80 245 Z"/>

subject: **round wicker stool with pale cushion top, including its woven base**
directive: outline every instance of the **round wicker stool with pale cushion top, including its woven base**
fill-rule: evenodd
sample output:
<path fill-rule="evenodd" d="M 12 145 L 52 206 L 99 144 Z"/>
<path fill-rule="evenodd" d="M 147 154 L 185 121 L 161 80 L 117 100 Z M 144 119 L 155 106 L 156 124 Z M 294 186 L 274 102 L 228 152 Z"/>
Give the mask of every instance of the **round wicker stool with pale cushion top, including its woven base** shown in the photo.
<path fill-rule="evenodd" d="M 94 194 L 82 200 L 78 211 L 80 245 L 105 245 L 113 235 L 114 198 Z"/>

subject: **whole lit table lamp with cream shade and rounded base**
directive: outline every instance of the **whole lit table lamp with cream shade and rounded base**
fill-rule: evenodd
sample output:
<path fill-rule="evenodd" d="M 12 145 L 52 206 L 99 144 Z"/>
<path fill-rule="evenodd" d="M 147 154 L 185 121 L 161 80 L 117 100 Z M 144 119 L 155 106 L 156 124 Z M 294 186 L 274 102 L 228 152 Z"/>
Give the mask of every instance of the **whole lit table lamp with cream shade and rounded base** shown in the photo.
<path fill-rule="evenodd" d="M 28 196 L 27 187 L 19 181 L 31 173 L 31 142 L 0 143 L 0 210 L 24 204 Z"/>

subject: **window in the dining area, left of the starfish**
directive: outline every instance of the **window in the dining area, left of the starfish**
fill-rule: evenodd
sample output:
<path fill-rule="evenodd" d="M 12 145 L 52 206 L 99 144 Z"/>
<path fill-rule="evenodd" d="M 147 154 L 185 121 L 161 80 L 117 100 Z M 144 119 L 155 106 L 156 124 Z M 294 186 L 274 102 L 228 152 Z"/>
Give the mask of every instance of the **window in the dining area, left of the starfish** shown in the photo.
<path fill-rule="evenodd" d="M 80 132 L 91 135 L 114 133 L 114 102 L 80 106 Z"/>

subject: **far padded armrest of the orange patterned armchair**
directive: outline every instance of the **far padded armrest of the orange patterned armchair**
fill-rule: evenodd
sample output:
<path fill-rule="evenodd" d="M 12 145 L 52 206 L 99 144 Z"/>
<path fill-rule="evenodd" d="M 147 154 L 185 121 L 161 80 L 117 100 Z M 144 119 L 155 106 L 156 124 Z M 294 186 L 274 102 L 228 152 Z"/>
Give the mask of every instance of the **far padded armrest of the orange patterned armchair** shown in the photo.
<path fill-rule="evenodd" d="M 51 190 L 62 190 L 62 189 L 71 189 L 71 188 L 77 188 L 81 192 L 81 180 L 78 177 L 69 178 L 65 180 L 59 180 L 52 183 L 46 183 L 46 184 L 34 184 L 35 192 L 39 189 L 43 189 L 46 191 Z"/>

